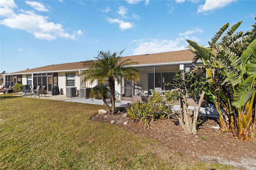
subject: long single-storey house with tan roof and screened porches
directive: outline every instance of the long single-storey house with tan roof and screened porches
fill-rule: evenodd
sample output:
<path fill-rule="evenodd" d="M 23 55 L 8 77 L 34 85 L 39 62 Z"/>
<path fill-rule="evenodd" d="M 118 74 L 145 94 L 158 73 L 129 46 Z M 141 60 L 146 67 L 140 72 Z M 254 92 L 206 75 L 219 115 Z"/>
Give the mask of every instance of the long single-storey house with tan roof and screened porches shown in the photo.
<path fill-rule="evenodd" d="M 164 86 L 164 83 L 169 82 L 177 70 L 189 70 L 192 68 L 194 53 L 188 49 L 122 58 L 138 62 L 138 64 L 133 66 L 139 67 L 139 84 L 142 90 L 148 91 L 155 88 L 167 90 L 174 87 Z M 82 83 L 83 77 L 79 77 L 79 75 L 85 69 L 86 67 L 83 67 L 82 62 L 47 65 L 4 74 L 4 83 L 6 83 L 7 87 L 15 83 L 34 85 L 35 87 L 38 85 L 41 87 L 46 86 L 48 94 L 52 94 L 53 86 L 58 86 L 60 93 L 66 94 L 68 87 L 76 87 L 79 90 L 82 87 L 92 88 L 98 84 L 98 82 L 93 84 L 89 82 Z M 122 80 L 120 85 L 116 84 L 116 91 L 120 94 L 121 100 L 137 101 L 140 99 L 140 96 L 134 93 L 134 86 L 132 81 L 127 80 Z"/>

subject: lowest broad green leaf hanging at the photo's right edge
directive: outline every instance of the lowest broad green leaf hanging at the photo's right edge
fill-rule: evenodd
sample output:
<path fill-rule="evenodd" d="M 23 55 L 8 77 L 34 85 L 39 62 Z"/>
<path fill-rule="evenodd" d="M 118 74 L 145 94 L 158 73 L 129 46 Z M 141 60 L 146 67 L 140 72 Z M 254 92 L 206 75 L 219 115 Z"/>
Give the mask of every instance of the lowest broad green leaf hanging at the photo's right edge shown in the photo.
<path fill-rule="evenodd" d="M 253 81 L 254 81 L 254 75 L 251 75 L 243 83 L 241 83 L 238 86 L 238 93 L 236 93 L 236 95 L 234 96 L 234 98 L 237 98 L 237 99 L 234 100 L 232 103 L 232 105 L 236 109 L 244 106 L 252 97 L 252 94 L 256 89 L 255 88 L 251 90 L 248 90 L 248 89 L 250 85 L 254 83 Z"/>

